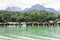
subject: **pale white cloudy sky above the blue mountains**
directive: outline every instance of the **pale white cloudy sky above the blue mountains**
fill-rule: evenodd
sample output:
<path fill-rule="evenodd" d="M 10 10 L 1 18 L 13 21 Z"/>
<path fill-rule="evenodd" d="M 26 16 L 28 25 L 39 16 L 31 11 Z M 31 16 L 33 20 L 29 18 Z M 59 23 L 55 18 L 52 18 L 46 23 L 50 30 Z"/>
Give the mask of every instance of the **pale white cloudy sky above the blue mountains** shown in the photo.
<path fill-rule="evenodd" d="M 7 7 L 20 7 L 25 9 L 35 4 L 60 10 L 60 0 L 0 0 L 0 10 Z"/>

